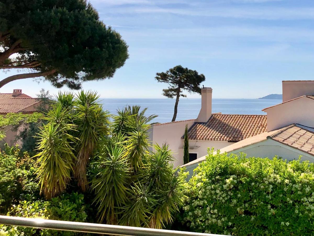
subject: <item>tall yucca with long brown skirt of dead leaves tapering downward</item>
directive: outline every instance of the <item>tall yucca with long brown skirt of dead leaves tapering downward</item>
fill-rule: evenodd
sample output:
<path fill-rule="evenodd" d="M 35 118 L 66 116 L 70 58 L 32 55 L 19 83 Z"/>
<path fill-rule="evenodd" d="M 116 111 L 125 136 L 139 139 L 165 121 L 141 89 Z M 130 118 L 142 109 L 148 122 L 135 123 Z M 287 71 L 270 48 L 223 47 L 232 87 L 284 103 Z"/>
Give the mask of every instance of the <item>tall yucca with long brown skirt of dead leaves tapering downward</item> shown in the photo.
<path fill-rule="evenodd" d="M 78 152 L 74 177 L 83 191 L 88 189 L 86 168 L 89 159 L 100 144 L 101 138 L 108 134 L 109 114 L 103 111 L 98 98 L 95 92 L 81 91 L 75 100 L 75 123 L 78 126 L 79 140 L 75 147 Z"/>

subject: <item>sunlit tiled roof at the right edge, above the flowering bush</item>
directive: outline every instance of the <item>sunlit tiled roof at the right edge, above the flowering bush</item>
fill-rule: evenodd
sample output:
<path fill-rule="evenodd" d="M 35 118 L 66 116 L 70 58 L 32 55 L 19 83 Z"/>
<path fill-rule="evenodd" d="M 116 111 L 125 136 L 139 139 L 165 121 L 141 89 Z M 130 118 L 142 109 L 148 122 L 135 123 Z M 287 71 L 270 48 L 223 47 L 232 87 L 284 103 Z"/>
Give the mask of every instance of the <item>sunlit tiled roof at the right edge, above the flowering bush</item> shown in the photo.
<path fill-rule="evenodd" d="M 267 138 L 314 155 L 314 132 L 305 126 L 296 124 L 286 126 Z"/>

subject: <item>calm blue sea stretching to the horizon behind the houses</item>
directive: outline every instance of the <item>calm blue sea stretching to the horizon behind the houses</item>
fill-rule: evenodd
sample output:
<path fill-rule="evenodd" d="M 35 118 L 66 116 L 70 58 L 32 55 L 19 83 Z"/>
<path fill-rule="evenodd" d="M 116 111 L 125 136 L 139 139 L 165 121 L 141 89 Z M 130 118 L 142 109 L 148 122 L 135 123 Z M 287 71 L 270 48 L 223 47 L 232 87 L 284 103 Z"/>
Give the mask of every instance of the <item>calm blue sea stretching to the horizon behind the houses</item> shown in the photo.
<path fill-rule="evenodd" d="M 263 108 L 281 103 L 277 99 L 219 99 L 213 98 L 212 112 L 222 114 L 266 115 Z M 170 122 L 174 112 L 175 99 L 170 98 L 100 98 L 104 110 L 116 114 L 126 105 L 147 107 L 146 115 L 158 115 L 152 122 Z M 181 98 L 176 121 L 195 119 L 201 109 L 200 98 Z"/>

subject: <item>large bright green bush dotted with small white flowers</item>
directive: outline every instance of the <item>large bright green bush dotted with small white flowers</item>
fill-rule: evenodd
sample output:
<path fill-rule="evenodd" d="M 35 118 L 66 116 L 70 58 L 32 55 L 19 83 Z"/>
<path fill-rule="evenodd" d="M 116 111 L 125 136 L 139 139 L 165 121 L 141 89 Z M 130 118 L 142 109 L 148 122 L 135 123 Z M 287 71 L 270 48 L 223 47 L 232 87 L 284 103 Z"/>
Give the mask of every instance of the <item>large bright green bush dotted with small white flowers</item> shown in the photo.
<path fill-rule="evenodd" d="M 188 183 L 180 216 L 190 231 L 228 235 L 311 235 L 314 165 L 208 152 Z"/>

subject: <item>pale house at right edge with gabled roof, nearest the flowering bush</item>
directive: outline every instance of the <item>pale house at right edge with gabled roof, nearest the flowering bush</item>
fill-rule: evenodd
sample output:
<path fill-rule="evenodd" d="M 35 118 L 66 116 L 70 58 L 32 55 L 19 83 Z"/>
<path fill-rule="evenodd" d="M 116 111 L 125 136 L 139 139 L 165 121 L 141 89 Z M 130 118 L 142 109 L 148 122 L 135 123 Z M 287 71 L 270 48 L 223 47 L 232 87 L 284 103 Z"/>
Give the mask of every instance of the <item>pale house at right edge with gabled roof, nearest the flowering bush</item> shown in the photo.
<path fill-rule="evenodd" d="M 233 143 L 220 152 L 247 156 L 275 155 L 287 160 L 314 162 L 314 81 L 282 81 L 283 102 L 263 109 L 265 132 Z M 206 156 L 183 165 L 191 173 Z"/>

